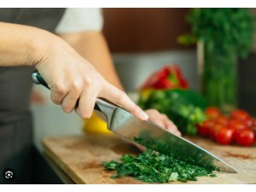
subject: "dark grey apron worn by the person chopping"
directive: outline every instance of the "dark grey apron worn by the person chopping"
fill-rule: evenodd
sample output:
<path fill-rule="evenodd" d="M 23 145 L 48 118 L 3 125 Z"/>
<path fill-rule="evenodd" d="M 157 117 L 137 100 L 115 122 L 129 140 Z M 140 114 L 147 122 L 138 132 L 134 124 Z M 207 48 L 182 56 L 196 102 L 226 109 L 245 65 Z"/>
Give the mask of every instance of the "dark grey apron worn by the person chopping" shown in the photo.
<path fill-rule="evenodd" d="M 0 21 L 54 32 L 64 12 L 65 9 L 0 9 Z M 32 181 L 32 70 L 32 67 L 0 67 L 0 183 Z M 12 182 L 3 179 L 6 168 L 15 170 Z"/>

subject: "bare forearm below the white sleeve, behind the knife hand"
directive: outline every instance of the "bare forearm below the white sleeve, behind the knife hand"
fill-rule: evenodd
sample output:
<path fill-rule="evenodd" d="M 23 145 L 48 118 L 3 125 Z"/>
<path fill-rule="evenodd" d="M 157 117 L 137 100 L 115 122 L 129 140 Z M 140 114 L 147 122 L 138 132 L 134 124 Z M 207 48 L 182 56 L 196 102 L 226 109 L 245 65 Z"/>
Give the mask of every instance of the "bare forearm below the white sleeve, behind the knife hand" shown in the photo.
<path fill-rule="evenodd" d="M 113 67 L 113 61 L 102 32 L 79 32 L 60 35 L 61 38 L 73 46 L 80 55 L 96 67 L 96 70 L 120 90 L 123 90 L 118 75 Z"/>

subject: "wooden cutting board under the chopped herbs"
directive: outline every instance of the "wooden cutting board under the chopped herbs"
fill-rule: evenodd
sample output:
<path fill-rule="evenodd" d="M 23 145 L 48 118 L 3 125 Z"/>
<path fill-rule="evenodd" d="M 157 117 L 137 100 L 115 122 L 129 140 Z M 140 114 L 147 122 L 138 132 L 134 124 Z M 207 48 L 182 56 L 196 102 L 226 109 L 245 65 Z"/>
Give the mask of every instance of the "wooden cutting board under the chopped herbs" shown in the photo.
<path fill-rule="evenodd" d="M 187 137 L 188 138 L 188 137 Z M 198 177 L 202 183 L 256 183 L 256 148 L 220 146 L 200 137 L 188 138 L 212 154 L 234 166 L 239 173 L 217 172 L 217 177 Z M 102 161 L 119 160 L 122 154 L 138 154 L 139 150 L 120 137 L 110 136 L 70 136 L 44 138 L 44 152 L 65 172 L 74 183 L 126 183 L 138 184 L 132 177 L 110 178 L 114 171 L 107 171 Z M 181 184 L 172 182 L 171 184 Z M 182 183 L 184 184 L 184 183 Z"/>

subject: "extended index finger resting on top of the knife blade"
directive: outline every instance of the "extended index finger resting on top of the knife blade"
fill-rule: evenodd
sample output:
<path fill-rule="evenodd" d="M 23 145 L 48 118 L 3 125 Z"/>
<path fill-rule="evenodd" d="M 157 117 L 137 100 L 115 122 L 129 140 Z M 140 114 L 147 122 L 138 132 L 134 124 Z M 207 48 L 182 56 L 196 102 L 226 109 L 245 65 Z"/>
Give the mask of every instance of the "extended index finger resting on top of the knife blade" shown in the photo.
<path fill-rule="evenodd" d="M 125 94 L 124 91 L 121 91 L 114 87 L 112 84 L 106 84 L 103 86 L 104 90 L 102 91 L 104 98 L 106 98 L 110 102 L 114 102 L 119 105 L 121 108 L 125 108 L 125 110 L 132 113 L 138 119 L 147 120 L 148 114 L 143 111 L 142 108 L 138 107 L 137 104 L 131 101 L 129 96 Z M 104 94 L 108 93 L 108 94 Z"/>

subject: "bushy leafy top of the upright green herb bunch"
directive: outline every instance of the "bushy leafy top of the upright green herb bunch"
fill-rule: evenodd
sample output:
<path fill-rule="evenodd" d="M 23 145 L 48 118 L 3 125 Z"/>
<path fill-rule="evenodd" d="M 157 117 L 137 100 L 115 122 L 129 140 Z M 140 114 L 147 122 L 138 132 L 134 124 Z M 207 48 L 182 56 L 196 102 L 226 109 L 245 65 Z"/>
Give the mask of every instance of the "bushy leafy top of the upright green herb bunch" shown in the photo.
<path fill-rule="evenodd" d="M 246 58 L 253 44 L 253 16 L 244 8 L 194 8 L 188 15 L 192 32 L 178 38 L 180 44 L 200 40 L 224 55 Z"/>

